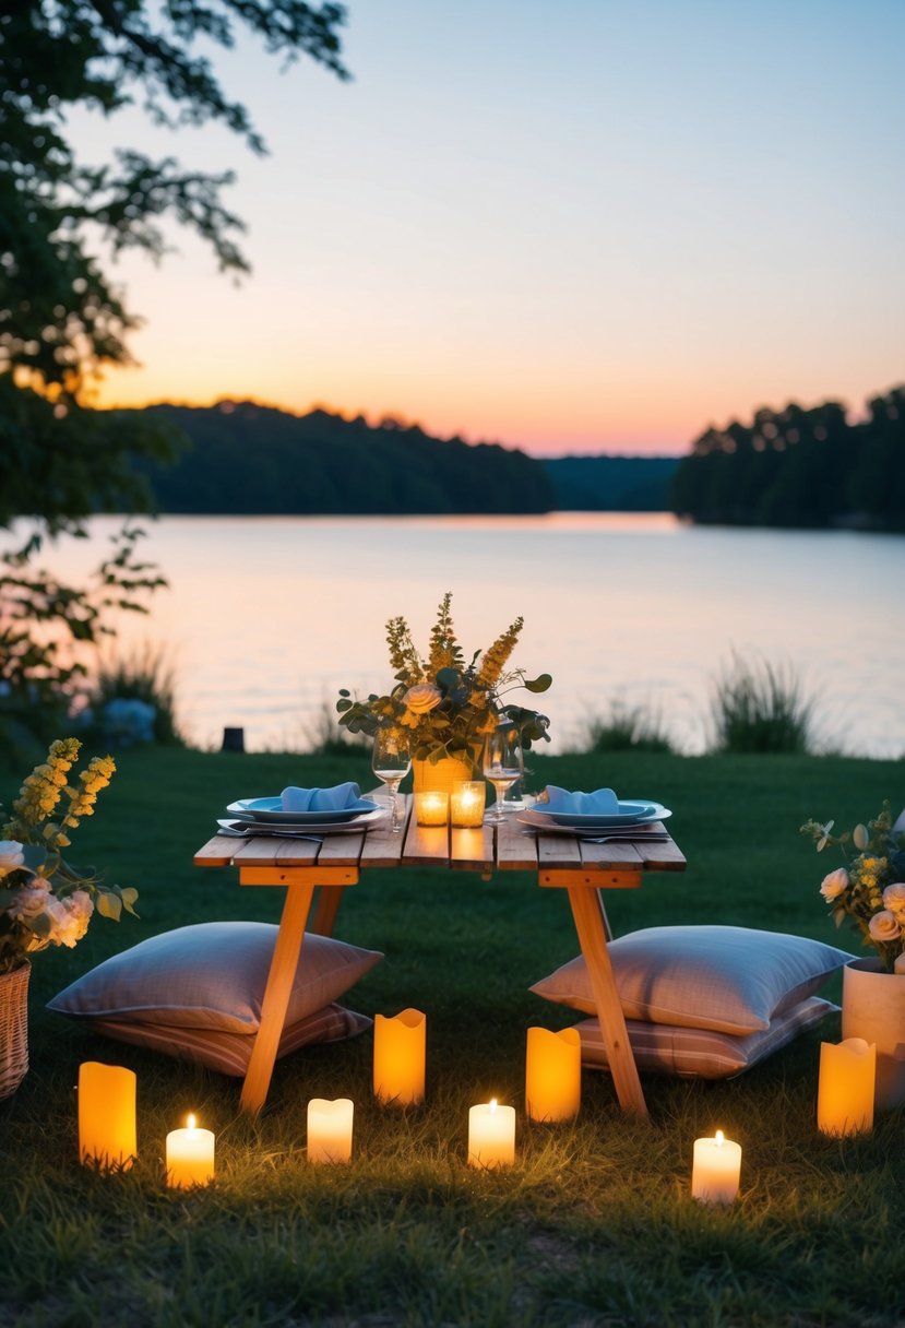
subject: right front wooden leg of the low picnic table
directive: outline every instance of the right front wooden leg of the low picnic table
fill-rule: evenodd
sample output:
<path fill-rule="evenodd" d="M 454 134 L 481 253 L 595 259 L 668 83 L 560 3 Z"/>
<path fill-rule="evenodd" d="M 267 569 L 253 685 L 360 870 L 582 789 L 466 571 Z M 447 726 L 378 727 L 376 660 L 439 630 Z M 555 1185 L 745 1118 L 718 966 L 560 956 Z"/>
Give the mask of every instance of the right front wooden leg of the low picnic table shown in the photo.
<path fill-rule="evenodd" d="M 579 944 L 588 965 L 591 989 L 597 1007 L 600 1032 L 606 1048 L 606 1060 L 613 1076 L 616 1096 L 624 1112 L 632 1112 L 634 1116 L 648 1120 L 648 1105 L 644 1100 L 638 1068 L 634 1064 L 632 1044 L 625 1028 L 622 1003 L 606 950 L 604 915 L 597 891 L 588 888 L 588 886 L 569 886 L 568 895 Z"/>

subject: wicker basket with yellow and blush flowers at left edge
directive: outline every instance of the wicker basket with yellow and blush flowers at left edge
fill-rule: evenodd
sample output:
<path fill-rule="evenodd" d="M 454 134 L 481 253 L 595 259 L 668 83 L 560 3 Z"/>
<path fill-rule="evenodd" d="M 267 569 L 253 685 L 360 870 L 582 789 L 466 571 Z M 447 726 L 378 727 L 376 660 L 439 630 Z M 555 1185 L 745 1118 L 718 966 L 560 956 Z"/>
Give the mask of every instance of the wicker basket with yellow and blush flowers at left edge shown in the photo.
<path fill-rule="evenodd" d="M 123 908 L 134 914 L 138 898 L 137 890 L 105 886 L 92 869 L 62 857 L 69 831 L 93 814 L 115 770 L 111 757 L 93 757 L 74 780 L 80 750 L 77 738 L 50 745 L 0 831 L 0 1097 L 13 1093 L 28 1070 L 31 956 L 48 946 L 74 947 L 96 908 L 118 919 Z"/>

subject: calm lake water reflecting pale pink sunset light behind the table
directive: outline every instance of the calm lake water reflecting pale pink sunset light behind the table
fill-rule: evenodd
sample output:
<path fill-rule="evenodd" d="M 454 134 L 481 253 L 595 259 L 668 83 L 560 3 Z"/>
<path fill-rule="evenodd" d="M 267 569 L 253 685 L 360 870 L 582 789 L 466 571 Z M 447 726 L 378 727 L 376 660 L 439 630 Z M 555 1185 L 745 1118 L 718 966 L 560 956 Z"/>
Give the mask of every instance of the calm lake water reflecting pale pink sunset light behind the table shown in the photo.
<path fill-rule="evenodd" d="M 77 578 L 115 518 L 45 563 Z M 143 556 L 170 582 L 119 640 L 166 643 L 179 717 L 200 746 L 224 726 L 249 750 L 303 749 L 340 687 L 390 684 L 385 624 L 422 651 L 446 590 L 470 655 L 519 614 L 512 661 L 553 675 L 539 701 L 563 750 L 617 699 L 660 712 L 686 752 L 707 744 L 713 680 L 732 653 L 792 667 L 823 738 L 905 753 L 905 539 L 694 529 L 663 514 L 545 518 L 166 517 Z M 524 699 L 516 693 L 514 699 Z"/>

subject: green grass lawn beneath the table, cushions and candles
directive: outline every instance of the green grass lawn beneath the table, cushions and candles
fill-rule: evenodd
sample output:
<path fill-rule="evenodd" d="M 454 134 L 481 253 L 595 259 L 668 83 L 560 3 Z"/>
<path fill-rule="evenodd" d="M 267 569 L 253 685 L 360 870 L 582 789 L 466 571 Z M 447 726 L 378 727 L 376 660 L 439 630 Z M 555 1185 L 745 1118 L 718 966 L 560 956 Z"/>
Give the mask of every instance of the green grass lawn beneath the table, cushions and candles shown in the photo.
<path fill-rule="evenodd" d="M 141 920 L 96 918 L 77 950 L 35 959 L 32 1069 L 0 1102 L 4 1328 L 905 1321 L 902 1114 L 848 1141 L 816 1131 L 819 1044 L 839 1038 L 837 1016 L 735 1081 L 646 1077 L 650 1123 L 624 1117 L 609 1077 L 587 1072 L 575 1125 L 527 1125 L 527 1027 L 581 1017 L 528 992 L 577 952 L 565 896 L 529 875 L 374 871 L 346 891 L 337 935 L 386 957 L 345 1004 L 427 1013 L 427 1102 L 407 1113 L 372 1098 L 370 1035 L 279 1062 L 249 1121 L 239 1081 L 46 1012 L 72 979 L 145 936 L 277 919 L 281 891 L 240 891 L 232 871 L 191 866 L 228 801 L 289 782 L 373 782 L 356 757 L 135 750 L 118 765 L 72 855 L 138 887 Z M 897 811 L 902 762 L 620 753 L 531 765 L 535 789 L 612 784 L 673 809 L 689 870 L 610 894 L 617 934 L 732 923 L 859 951 L 817 894 L 837 862 L 798 830 L 808 817 L 851 826 L 885 797 Z M 0 781 L 7 806 L 24 773 Z M 839 991 L 835 980 L 825 993 Z M 139 1159 L 122 1175 L 76 1159 L 73 1085 L 93 1058 L 138 1073 Z M 464 1162 L 467 1113 L 494 1093 L 519 1113 L 518 1165 L 487 1175 Z M 356 1102 L 354 1161 L 309 1166 L 308 1100 L 340 1096 Z M 163 1142 L 188 1110 L 218 1135 L 218 1179 L 169 1193 Z M 689 1198 L 693 1141 L 715 1127 L 744 1150 L 727 1211 Z"/>

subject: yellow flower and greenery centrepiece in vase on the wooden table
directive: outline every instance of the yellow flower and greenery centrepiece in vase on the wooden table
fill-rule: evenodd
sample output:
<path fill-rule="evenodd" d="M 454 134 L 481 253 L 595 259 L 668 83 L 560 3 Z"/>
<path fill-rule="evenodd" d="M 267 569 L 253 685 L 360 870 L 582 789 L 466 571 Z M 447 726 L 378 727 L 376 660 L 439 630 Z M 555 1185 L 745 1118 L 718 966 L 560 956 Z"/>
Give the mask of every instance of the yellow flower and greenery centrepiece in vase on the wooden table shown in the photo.
<path fill-rule="evenodd" d="M 523 669 L 510 667 L 524 620 L 516 618 L 488 649 L 476 651 L 468 660 L 455 635 L 451 600 L 447 592 L 439 603 L 426 657 L 418 652 L 405 618 L 389 620 L 386 640 L 395 681 L 389 693 L 372 693 L 362 701 L 353 700 L 342 688 L 336 703 L 340 724 L 349 733 L 373 737 L 378 729 L 389 728 L 407 740 L 415 762 L 415 788 L 426 774 L 423 762 L 438 766 L 454 761 L 459 777 L 462 765 L 467 766 L 464 777 L 468 777 L 484 737 L 499 722 L 516 725 L 527 749 L 532 742 L 549 741 L 545 714 L 503 700 L 515 688 L 539 693 L 552 683 L 549 673 L 529 679 Z"/>

